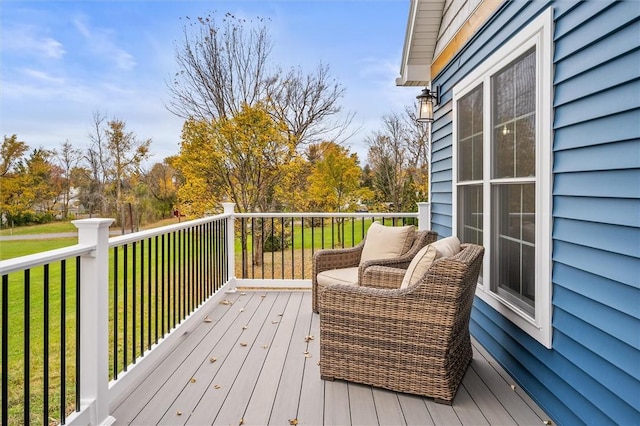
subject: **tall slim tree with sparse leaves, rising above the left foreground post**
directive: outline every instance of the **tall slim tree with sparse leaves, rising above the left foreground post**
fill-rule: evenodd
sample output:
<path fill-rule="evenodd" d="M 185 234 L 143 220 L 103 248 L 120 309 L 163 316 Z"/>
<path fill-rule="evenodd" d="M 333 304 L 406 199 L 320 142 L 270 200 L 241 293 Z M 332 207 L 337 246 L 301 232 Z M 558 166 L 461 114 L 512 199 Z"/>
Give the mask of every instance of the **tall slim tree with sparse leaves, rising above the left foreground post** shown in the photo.
<path fill-rule="evenodd" d="M 116 210 L 120 214 L 120 227 L 125 230 L 125 181 L 138 172 L 140 163 L 149 156 L 151 139 L 140 141 L 133 132 L 127 132 L 122 120 L 113 119 L 104 131 L 109 157 L 113 160 L 111 170 L 116 192 Z M 131 215 L 132 216 L 132 215 Z M 131 217 L 133 225 L 133 217 Z"/>

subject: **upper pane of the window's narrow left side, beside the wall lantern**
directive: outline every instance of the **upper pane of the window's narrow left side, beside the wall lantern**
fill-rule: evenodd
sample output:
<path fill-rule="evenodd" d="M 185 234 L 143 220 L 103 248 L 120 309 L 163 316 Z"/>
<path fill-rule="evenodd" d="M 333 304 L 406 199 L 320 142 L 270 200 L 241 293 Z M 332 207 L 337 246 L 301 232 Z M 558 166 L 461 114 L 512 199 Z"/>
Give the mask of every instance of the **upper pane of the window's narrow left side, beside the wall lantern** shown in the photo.
<path fill-rule="evenodd" d="M 482 179 L 482 85 L 458 101 L 458 180 Z"/>

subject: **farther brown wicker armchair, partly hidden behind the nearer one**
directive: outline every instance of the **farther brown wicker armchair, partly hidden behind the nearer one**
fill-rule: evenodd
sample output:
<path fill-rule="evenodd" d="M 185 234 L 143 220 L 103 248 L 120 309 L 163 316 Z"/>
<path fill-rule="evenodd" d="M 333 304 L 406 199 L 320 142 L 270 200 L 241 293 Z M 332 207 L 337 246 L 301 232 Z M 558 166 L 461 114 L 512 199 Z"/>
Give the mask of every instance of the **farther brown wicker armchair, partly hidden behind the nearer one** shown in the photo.
<path fill-rule="evenodd" d="M 386 266 L 388 268 L 392 268 L 397 274 L 400 275 L 400 281 L 402 281 L 402 277 L 404 276 L 404 271 L 409 267 L 411 260 L 413 257 L 420 251 L 420 249 L 427 244 L 431 244 L 438 239 L 438 233 L 435 231 L 418 231 L 413 240 L 413 244 L 411 248 L 402 256 L 394 257 L 391 259 L 377 259 L 377 260 L 369 260 L 360 264 L 360 256 L 362 254 L 362 248 L 364 247 L 365 238 L 360 242 L 360 244 L 345 249 L 325 249 L 317 251 L 313 256 L 313 267 L 311 272 L 311 305 L 313 312 L 318 312 L 318 294 L 322 289 L 322 285 L 318 284 L 317 276 L 320 272 L 327 271 L 329 269 L 341 269 L 341 268 L 353 268 L 358 267 L 358 283 L 359 285 L 364 285 L 363 280 L 365 280 L 365 271 L 367 268 L 378 265 L 378 266 Z M 384 287 L 385 282 L 381 282 L 380 280 L 374 280 L 372 283 L 371 280 L 368 280 L 371 286 L 382 286 Z M 400 283 L 397 285 L 391 286 L 391 284 L 387 284 L 387 288 L 397 288 L 400 286 Z"/>

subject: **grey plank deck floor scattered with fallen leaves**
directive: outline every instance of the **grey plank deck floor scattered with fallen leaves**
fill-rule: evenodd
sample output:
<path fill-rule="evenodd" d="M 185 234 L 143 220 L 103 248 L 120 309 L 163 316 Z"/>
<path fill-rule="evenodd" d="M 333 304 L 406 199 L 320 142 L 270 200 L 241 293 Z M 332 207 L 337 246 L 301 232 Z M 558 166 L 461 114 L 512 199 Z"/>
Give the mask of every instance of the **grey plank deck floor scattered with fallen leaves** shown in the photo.
<path fill-rule="evenodd" d="M 474 342 L 453 406 L 320 379 L 309 291 L 225 295 L 113 408 L 117 425 L 540 425 L 548 419 Z"/>

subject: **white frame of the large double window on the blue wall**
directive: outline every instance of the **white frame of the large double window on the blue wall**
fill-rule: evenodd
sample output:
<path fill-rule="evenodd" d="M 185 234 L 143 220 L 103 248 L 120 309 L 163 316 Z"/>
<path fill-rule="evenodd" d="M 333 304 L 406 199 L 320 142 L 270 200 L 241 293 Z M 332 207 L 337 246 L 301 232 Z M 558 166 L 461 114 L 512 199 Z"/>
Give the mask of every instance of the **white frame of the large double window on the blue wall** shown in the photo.
<path fill-rule="evenodd" d="M 483 84 L 483 277 L 476 296 L 547 348 L 552 347 L 551 205 L 553 140 L 553 11 L 545 10 L 453 87 L 453 234 L 458 235 L 457 101 Z M 536 290 L 530 314 L 491 291 L 491 77 L 530 48 L 536 48 Z"/>

